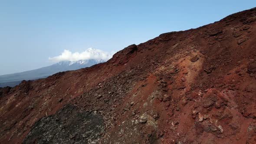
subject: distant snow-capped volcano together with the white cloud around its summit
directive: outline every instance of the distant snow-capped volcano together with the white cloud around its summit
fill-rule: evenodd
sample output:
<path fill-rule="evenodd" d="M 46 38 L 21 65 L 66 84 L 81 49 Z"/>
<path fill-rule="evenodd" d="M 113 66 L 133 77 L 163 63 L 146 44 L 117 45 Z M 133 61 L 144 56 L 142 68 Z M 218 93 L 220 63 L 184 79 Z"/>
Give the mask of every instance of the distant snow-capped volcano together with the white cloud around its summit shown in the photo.
<path fill-rule="evenodd" d="M 100 49 L 89 48 L 84 52 L 70 52 L 64 50 L 60 56 L 49 58 L 50 61 L 56 62 L 53 65 L 40 69 L 19 72 L 9 75 L 0 75 L 0 87 L 15 86 L 22 80 L 34 80 L 46 78 L 57 72 L 69 71 L 90 67 L 92 65 L 107 61 L 112 57 L 109 52 Z"/>

